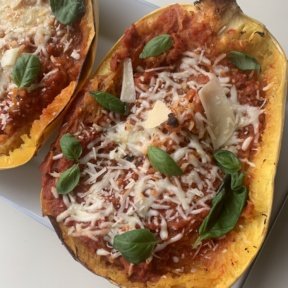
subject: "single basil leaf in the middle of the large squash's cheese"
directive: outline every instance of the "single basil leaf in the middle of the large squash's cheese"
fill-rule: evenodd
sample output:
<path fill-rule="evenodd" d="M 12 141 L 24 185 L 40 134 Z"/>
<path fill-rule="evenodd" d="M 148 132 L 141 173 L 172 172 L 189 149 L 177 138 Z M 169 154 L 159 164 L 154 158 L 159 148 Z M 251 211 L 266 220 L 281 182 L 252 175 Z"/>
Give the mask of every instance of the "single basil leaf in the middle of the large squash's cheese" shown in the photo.
<path fill-rule="evenodd" d="M 183 174 L 177 163 L 160 148 L 148 147 L 148 158 L 152 166 L 166 176 L 180 176 Z"/>

